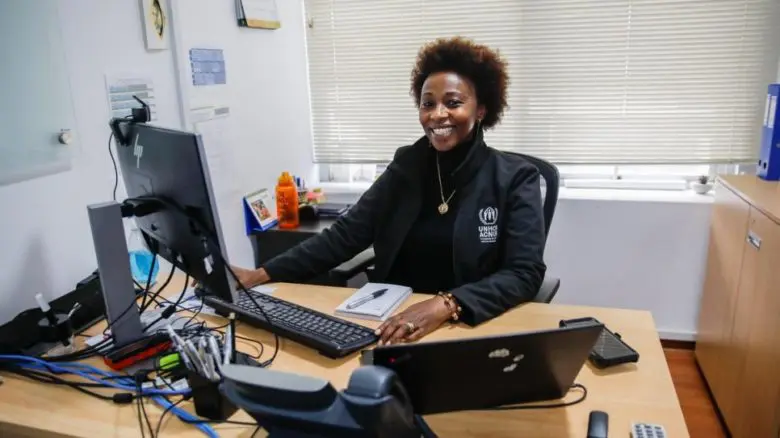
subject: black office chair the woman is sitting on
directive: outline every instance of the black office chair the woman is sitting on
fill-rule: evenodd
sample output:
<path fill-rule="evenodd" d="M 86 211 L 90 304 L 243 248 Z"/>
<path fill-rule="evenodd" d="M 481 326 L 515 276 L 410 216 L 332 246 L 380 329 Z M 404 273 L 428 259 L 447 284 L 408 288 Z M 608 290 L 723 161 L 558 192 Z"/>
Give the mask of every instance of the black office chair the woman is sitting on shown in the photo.
<path fill-rule="evenodd" d="M 544 180 L 545 192 L 542 209 L 544 213 L 544 231 L 546 240 L 546 236 L 550 234 L 550 225 L 552 224 L 552 218 L 555 214 L 555 207 L 558 204 L 558 188 L 561 179 L 560 174 L 558 173 L 558 168 L 549 161 L 543 160 L 541 158 L 516 152 L 508 153 L 522 157 L 526 161 L 536 166 L 536 168 L 539 170 L 539 174 Z M 331 270 L 330 280 L 334 285 L 346 286 L 350 279 L 370 270 L 373 264 L 374 250 L 369 248 L 351 260 Z M 544 279 L 542 280 L 542 285 L 539 287 L 539 292 L 536 294 L 536 297 L 533 299 L 533 301 L 536 303 L 550 303 L 555 297 L 555 294 L 558 293 L 560 286 L 560 278 L 545 275 Z"/>

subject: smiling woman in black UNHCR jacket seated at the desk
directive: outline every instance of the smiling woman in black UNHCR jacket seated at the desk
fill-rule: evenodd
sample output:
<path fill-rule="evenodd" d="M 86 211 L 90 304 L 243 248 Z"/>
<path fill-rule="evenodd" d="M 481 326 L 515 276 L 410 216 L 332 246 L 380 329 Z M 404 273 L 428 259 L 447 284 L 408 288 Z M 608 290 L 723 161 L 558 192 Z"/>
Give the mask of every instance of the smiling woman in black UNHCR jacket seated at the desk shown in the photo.
<path fill-rule="evenodd" d="M 506 107 L 504 61 L 472 41 L 440 39 L 422 47 L 411 79 L 424 135 L 399 148 L 330 229 L 258 270 L 236 269 L 247 287 L 300 282 L 373 245 L 371 281 L 432 295 L 385 321 L 380 344 L 494 318 L 532 300 L 546 270 L 539 172 L 483 139 Z"/>

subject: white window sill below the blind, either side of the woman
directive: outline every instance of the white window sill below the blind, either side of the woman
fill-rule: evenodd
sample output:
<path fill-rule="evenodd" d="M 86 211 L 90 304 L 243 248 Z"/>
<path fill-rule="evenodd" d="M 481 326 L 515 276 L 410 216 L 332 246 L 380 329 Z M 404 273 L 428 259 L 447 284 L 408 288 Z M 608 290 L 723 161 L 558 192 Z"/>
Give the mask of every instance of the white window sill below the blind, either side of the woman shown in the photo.
<path fill-rule="evenodd" d="M 326 196 L 338 197 L 353 195 L 357 199 L 371 183 L 321 183 L 315 187 L 323 190 Z M 711 204 L 713 192 L 699 195 L 693 190 L 632 190 L 632 189 L 585 189 L 561 187 L 558 199 L 621 201 L 621 202 L 665 202 L 686 204 Z"/>

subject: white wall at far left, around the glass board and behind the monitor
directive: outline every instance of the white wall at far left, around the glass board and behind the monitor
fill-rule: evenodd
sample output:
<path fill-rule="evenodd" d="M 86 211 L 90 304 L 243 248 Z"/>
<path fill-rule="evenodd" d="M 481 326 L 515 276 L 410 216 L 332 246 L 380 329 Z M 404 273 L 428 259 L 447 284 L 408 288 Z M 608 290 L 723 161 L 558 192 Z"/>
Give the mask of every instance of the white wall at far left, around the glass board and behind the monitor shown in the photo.
<path fill-rule="evenodd" d="M 54 298 L 91 273 L 94 250 L 86 206 L 111 198 L 104 74 L 143 71 L 157 88 L 161 124 L 180 125 L 173 58 L 148 53 L 138 1 L 60 2 L 62 38 L 77 122 L 72 170 L 0 187 L 0 323 Z"/>

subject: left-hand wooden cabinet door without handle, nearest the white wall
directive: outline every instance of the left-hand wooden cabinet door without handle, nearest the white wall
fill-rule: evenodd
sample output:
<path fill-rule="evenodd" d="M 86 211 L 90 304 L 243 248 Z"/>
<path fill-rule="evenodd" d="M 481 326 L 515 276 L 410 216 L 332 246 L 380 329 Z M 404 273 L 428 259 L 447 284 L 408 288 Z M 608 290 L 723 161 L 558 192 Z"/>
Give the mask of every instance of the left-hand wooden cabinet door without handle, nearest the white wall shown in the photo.
<path fill-rule="evenodd" d="M 729 428 L 732 428 L 733 388 L 741 368 L 741 362 L 732 351 L 731 329 L 749 213 L 745 201 L 718 185 L 710 222 L 696 358 Z"/>

